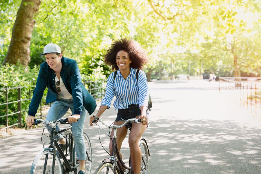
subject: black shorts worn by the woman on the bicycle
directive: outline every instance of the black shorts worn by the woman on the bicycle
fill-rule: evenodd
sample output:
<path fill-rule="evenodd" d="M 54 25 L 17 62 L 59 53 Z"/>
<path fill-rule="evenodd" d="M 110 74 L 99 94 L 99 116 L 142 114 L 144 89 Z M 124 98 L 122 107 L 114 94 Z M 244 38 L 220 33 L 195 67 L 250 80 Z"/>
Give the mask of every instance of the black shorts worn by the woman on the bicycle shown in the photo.
<path fill-rule="evenodd" d="M 125 121 L 130 118 L 135 118 L 141 115 L 139 104 L 131 104 L 128 109 L 118 109 L 117 117 L 115 121 Z M 146 117 L 149 118 L 149 111 L 146 111 Z"/>

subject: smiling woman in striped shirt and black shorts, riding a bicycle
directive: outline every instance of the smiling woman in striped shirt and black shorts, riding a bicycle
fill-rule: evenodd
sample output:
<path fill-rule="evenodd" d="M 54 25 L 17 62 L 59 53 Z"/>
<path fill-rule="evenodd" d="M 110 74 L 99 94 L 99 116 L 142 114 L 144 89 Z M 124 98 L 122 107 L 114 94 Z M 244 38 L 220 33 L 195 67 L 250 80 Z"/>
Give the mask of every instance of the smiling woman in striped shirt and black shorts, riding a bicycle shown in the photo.
<path fill-rule="evenodd" d="M 105 55 L 105 63 L 117 70 L 111 73 L 107 79 L 106 93 L 102 100 L 101 106 L 96 114 L 100 117 L 107 108 L 113 97 L 116 100 L 113 104 L 118 109 L 117 117 L 114 125 L 122 125 L 123 120 L 130 118 L 140 118 L 142 124 L 132 124 L 129 134 L 129 146 L 131 152 L 131 162 L 133 164 L 134 173 L 140 173 L 141 168 L 141 150 L 139 148 L 139 139 L 148 126 L 148 82 L 145 73 L 141 70 L 148 61 L 148 56 L 133 39 L 120 39 L 114 41 Z M 138 78 L 136 79 L 136 72 Z M 116 73 L 116 74 L 115 74 Z M 95 117 L 90 117 L 90 125 Z M 117 131 L 117 146 L 120 151 L 122 142 L 127 135 L 127 127 L 119 128 Z M 113 131 L 111 136 L 113 136 Z M 113 144 L 110 141 L 110 153 Z M 122 154 L 120 153 L 122 157 Z"/>

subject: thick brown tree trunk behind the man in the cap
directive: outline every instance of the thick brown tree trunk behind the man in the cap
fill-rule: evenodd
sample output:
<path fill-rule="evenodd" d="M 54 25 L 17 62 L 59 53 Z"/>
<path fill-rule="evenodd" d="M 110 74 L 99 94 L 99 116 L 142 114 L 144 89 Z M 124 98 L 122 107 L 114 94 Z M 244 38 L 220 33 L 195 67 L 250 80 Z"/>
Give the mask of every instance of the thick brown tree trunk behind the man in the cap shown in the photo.
<path fill-rule="evenodd" d="M 27 66 L 30 61 L 30 41 L 38 13 L 40 0 L 22 0 L 12 30 L 12 39 L 3 64 Z"/>

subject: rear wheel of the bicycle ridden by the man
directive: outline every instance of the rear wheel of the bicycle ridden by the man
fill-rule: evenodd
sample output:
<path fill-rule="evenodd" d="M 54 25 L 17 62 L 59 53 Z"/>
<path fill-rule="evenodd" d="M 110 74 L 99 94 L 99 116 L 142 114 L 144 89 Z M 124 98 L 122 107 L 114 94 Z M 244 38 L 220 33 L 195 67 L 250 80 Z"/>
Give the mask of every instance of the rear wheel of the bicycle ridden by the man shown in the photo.
<path fill-rule="evenodd" d="M 91 172 L 91 167 L 92 167 L 92 146 L 90 143 L 90 139 L 88 137 L 88 135 L 84 132 L 83 133 L 84 136 L 84 142 L 85 142 L 85 148 L 86 148 L 86 155 L 87 155 L 87 160 L 85 160 L 85 173 L 86 174 L 90 174 Z M 73 147 L 73 161 L 75 163 L 75 166 L 79 164 L 79 161 L 76 159 L 76 151 L 75 151 L 75 147 Z M 79 171 L 79 167 L 77 168 L 77 171 Z"/>

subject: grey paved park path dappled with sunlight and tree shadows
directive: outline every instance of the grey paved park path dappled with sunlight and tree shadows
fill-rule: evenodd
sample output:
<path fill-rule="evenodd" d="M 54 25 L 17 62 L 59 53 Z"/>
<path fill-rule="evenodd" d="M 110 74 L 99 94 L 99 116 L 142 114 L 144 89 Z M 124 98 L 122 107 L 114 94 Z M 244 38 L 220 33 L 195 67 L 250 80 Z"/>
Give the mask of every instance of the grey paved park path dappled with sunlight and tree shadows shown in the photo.
<path fill-rule="evenodd" d="M 176 81 L 149 86 L 153 110 L 144 133 L 151 153 L 149 173 L 261 173 L 261 124 L 220 95 L 217 83 Z M 101 118 L 111 123 L 116 114 L 111 108 Z M 88 120 L 85 124 L 93 147 L 93 173 L 107 156 L 99 144 L 98 127 L 88 126 Z M 37 128 L 0 140 L 0 174 L 29 173 L 42 148 L 41 132 Z M 100 133 L 108 149 L 108 138 Z M 121 151 L 128 158 L 127 139 Z"/>

